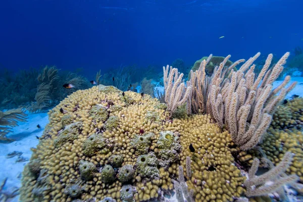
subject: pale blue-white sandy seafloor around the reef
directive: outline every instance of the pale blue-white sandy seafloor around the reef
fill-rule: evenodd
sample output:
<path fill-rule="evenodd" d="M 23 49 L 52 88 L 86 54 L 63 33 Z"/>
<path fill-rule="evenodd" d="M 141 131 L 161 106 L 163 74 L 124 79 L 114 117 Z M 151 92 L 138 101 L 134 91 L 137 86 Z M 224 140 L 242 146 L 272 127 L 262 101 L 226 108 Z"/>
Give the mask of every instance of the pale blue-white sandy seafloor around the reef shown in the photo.
<path fill-rule="evenodd" d="M 303 77 L 292 77 L 291 81 L 297 81 L 298 83 L 295 88 L 287 94 L 286 98 L 291 98 L 293 94 L 303 96 Z M 282 81 L 275 81 L 274 87 L 278 86 L 281 82 Z M 155 90 L 156 88 L 162 92 L 164 90 L 164 87 L 162 86 L 155 87 Z M 157 96 L 157 94 L 155 95 Z M 27 114 L 28 121 L 20 122 L 19 126 L 13 128 L 13 132 L 8 135 L 8 137 L 16 139 L 16 141 L 9 144 L 0 143 L 0 182 L 2 182 L 6 177 L 8 178 L 6 186 L 4 187 L 4 189 L 7 190 L 13 189 L 13 187 L 21 187 L 21 174 L 32 154 L 30 148 L 36 147 L 39 142 L 36 136 L 40 137 L 42 135 L 44 127 L 48 123 L 47 113 Z M 41 126 L 41 129 L 37 128 L 38 124 Z M 27 161 L 16 163 L 18 156 L 10 159 L 6 158 L 7 154 L 12 151 L 21 151 L 23 153 L 21 157 L 26 158 Z M 293 197 L 291 198 L 292 201 L 297 201 L 293 199 Z M 19 201 L 19 195 L 10 201 Z M 169 201 L 176 201 L 176 199 L 175 197 L 172 197 Z"/>

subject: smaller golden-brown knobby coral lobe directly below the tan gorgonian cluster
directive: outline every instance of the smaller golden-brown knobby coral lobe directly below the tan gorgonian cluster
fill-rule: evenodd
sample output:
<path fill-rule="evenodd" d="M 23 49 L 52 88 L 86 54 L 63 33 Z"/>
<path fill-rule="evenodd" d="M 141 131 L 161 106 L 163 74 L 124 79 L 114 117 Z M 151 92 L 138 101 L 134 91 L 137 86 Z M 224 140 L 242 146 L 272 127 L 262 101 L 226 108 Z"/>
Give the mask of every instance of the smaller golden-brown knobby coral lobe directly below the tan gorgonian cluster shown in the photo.
<path fill-rule="evenodd" d="M 195 201 L 231 201 L 232 197 L 244 193 L 242 183 L 245 177 L 234 165 L 234 143 L 227 131 L 221 132 L 220 127 L 211 123 L 209 115 L 174 120 L 171 127 L 177 127 L 181 134 L 181 166 L 188 169 L 188 157 L 191 160 L 191 177 L 188 177 L 187 170 L 184 176 L 188 189 L 193 190 Z M 189 149 L 190 143 L 194 152 Z"/>

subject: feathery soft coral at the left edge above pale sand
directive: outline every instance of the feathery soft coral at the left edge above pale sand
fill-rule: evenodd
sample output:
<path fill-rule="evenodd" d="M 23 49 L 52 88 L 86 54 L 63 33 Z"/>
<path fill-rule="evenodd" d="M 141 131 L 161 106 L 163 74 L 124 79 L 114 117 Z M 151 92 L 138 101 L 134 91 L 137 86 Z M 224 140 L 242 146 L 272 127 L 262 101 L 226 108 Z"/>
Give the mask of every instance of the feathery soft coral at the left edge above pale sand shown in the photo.
<path fill-rule="evenodd" d="M 21 108 L 8 111 L 0 111 L 0 142 L 12 142 L 6 135 L 12 132 L 12 128 L 18 126 L 18 121 L 26 121 L 26 114 Z"/>

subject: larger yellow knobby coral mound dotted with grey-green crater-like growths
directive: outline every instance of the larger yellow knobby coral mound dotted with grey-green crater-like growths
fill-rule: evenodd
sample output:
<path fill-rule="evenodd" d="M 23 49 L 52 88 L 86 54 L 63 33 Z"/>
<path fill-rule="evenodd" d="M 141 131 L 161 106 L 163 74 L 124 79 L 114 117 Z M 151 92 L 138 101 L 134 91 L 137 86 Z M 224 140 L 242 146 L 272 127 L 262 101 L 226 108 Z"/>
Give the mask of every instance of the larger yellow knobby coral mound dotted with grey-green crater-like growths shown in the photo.
<path fill-rule="evenodd" d="M 167 131 L 171 120 L 159 104 L 113 86 L 69 95 L 48 113 L 49 123 L 24 169 L 21 200 L 163 197 L 174 188 L 181 145 L 173 128 Z"/>

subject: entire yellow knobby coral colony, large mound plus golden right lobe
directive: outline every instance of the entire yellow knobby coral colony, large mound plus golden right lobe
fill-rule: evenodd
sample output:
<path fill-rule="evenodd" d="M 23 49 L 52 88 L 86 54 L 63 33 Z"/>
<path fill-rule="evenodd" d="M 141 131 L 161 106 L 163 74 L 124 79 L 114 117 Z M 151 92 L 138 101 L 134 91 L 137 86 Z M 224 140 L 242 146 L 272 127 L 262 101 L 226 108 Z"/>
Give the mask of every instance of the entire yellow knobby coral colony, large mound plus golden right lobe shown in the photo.
<path fill-rule="evenodd" d="M 49 123 L 23 171 L 20 199 L 160 199 L 174 188 L 180 164 L 187 177 L 186 157 L 192 172 L 187 184 L 196 201 L 239 196 L 244 178 L 233 165 L 230 135 L 210 116 L 170 120 L 159 104 L 149 95 L 122 93 L 113 86 L 69 95 L 48 114 Z"/>

